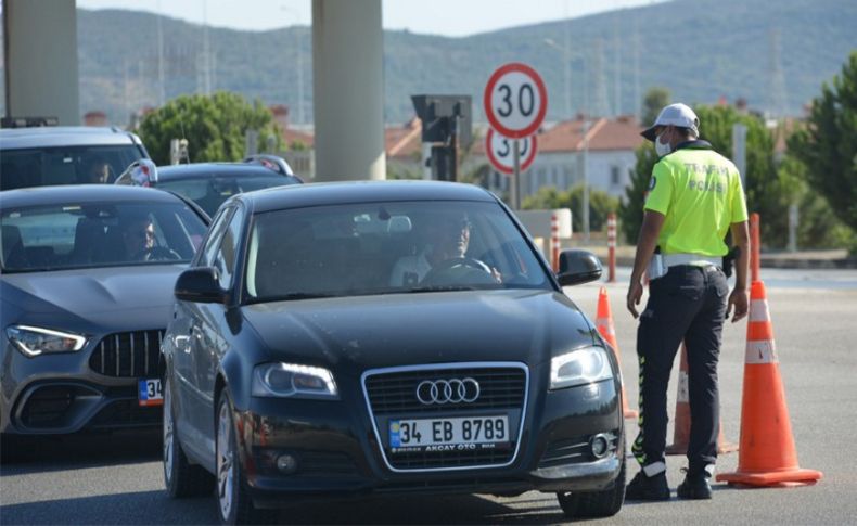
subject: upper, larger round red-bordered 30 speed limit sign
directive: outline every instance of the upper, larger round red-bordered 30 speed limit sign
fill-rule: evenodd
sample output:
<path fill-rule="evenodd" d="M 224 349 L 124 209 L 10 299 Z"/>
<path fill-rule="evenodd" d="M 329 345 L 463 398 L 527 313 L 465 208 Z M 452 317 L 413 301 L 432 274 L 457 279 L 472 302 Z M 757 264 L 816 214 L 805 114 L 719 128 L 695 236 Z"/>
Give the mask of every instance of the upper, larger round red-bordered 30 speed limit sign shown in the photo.
<path fill-rule="evenodd" d="M 512 62 L 497 68 L 485 86 L 485 115 L 510 139 L 534 134 L 548 112 L 548 91 L 535 69 Z"/>

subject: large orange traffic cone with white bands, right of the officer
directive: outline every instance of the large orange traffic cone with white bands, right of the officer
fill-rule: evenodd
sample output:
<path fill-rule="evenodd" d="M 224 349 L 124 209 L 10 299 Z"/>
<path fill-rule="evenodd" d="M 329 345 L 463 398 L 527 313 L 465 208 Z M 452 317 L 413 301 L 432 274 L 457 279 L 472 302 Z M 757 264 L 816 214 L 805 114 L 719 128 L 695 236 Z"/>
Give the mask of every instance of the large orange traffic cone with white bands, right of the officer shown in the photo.
<path fill-rule="evenodd" d="M 794 486 L 813 484 L 821 477 L 819 471 L 797 466 L 765 284 L 754 281 L 750 287 L 738 471 L 719 474 L 717 480 L 751 486 Z"/>

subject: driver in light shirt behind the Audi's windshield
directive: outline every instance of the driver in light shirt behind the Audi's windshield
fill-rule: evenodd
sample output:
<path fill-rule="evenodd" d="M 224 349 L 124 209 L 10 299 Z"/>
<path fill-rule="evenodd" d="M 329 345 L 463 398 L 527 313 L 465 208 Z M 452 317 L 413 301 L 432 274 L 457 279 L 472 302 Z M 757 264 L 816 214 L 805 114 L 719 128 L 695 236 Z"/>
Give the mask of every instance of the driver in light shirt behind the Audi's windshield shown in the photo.
<path fill-rule="evenodd" d="M 466 214 L 445 214 L 430 218 L 423 229 L 422 251 L 396 261 L 389 284 L 413 286 L 422 283 L 432 270 L 452 271 L 457 268 L 482 270 L 500 283 L 500 273 L 496 269 L 466 256 L 471 228 Z"/>

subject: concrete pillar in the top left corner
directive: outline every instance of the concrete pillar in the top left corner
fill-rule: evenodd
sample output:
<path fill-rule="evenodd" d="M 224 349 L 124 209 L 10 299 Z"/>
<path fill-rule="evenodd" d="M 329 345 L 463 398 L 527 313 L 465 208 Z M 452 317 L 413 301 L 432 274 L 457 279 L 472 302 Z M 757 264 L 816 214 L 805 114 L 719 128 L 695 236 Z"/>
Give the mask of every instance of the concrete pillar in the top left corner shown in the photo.
<path fill-rule="evenodd" d="M 3 0 L 5 113 L 80 124 L 75 0 Z"/>

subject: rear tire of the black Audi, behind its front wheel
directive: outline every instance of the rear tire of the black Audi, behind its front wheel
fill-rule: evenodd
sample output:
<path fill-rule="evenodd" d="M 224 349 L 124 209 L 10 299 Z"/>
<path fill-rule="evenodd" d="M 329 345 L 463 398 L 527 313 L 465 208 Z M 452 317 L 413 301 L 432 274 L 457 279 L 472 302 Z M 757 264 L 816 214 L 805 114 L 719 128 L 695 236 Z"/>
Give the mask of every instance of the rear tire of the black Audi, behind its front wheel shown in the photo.
<path fill-rule="evenodd" d="M 176 413 L 172 408 L 172 389 L 164 380 L 164 484 L 174 499 L 210 495 L 214 477 L 203 466 L 191 464 L 176 435 Z"/>

